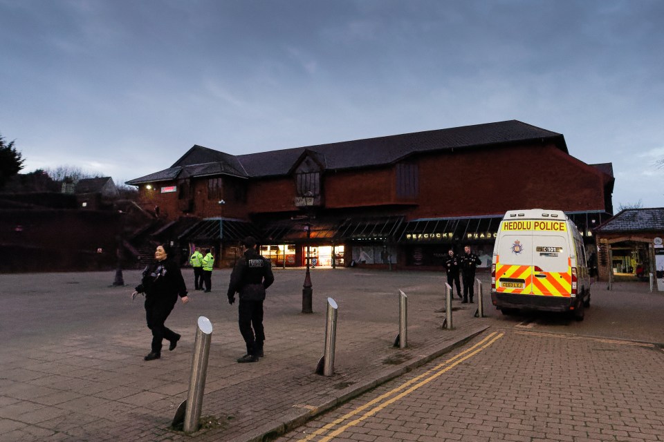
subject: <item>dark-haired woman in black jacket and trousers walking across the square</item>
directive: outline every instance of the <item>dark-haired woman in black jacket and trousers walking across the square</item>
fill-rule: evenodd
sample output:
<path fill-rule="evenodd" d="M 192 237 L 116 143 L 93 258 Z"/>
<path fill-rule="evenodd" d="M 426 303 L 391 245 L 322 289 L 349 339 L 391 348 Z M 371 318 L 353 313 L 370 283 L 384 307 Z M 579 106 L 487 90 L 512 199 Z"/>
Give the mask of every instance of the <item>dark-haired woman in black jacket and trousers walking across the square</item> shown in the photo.
<path fill-rule="evenodd" d="M 145 361 L 152 361 L 161 357 L 161 342 L 170 341 L 169 350 L 175 349 L 180 335 L 166 327 L 164 323 L 171 313 L 178 295 L 183 304 L 189 302 L 187 287 L 178 265 L 168 259 L 167 247 L 163 244 L 157 246 L 154 252 L 155 262 L 143 271 L 143 278 L 136 291 L 145 292 L 145 318 L 147 328 L 152 330 L 152 350 Z"/>

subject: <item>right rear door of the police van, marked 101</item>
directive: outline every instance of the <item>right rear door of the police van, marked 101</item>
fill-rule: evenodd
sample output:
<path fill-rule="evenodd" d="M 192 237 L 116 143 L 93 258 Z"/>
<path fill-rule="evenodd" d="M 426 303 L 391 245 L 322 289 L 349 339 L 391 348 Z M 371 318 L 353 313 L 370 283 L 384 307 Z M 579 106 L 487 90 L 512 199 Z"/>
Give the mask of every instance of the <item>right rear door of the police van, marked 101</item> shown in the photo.
<path fill-rule="evenodd" d="M 567 239 L 542 232 L 533 237 L 532 247 L 533 294 L 569 297 L 572 276 Z"/>

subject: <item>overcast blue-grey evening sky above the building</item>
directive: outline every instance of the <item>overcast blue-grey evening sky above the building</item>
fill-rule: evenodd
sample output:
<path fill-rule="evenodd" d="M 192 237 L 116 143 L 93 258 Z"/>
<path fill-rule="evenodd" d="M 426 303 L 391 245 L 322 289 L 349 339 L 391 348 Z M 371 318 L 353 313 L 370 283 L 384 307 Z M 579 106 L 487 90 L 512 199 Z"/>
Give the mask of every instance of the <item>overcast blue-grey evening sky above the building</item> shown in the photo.
<path fill-rule="evenodd" d="M 518 119 L 613 163 L 616 209 L 664 206 L 662 0 L 0 0 L 0 22 L 23 172 Z"/>

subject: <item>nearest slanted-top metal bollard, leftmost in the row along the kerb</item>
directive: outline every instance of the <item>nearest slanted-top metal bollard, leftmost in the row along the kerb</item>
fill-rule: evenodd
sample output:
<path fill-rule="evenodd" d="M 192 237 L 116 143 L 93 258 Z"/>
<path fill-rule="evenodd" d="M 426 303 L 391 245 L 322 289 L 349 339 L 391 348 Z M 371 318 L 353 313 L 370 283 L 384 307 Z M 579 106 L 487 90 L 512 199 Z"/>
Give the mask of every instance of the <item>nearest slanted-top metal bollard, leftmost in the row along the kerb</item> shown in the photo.
<path fill-rule="evenodd" d="M 201 408 L 203 407 L 203 391 L 205 376 L 208 374 L 208 356 L 210 355 L 210 337 L 212 323 L 205 316 L 200 316 L 194 341 L 194 358 L 192 359 L 192 376 L 189 380 L 189 394 L 183 430 L 194 432 L 199 429 Z"/>

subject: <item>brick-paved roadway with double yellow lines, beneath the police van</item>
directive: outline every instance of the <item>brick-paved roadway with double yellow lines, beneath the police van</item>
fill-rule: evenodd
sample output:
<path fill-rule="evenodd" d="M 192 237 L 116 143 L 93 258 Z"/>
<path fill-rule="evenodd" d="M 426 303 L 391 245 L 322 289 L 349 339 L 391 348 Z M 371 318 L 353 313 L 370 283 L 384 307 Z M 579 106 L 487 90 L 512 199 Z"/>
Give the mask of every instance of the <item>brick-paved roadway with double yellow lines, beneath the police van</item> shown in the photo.
<path fill-rule="evenodd" d="M 644 285 L 595 291 L 587 323 L 546 314 L 496 316 L 463 347 L 277 440 L 664 441 L 663 327 L 627 322 L 638 312 L 642 323 L 655 325 L 664 296 Z M 400 385 L 441 372 L 441 363 L 494 333 L 503 335 L 486 349 L 457 365 L 448 362 L 451 368 L 437 378 L 369 412 L 396 397 Z M 362 409 L 369 401 L 376 403 Z"/>

